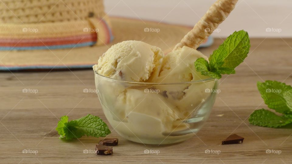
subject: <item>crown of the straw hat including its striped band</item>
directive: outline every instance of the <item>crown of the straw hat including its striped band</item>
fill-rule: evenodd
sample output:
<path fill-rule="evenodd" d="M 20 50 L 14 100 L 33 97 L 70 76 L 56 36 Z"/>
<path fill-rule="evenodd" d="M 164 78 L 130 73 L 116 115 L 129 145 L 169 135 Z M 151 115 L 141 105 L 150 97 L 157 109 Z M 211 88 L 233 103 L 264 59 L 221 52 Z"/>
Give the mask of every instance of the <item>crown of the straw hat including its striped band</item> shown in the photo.
<path fill-rule="evenodd" d="M 0 3 L 1 50 L 108 44 L 110 27 L 103 0 L 1 0 Z"/>

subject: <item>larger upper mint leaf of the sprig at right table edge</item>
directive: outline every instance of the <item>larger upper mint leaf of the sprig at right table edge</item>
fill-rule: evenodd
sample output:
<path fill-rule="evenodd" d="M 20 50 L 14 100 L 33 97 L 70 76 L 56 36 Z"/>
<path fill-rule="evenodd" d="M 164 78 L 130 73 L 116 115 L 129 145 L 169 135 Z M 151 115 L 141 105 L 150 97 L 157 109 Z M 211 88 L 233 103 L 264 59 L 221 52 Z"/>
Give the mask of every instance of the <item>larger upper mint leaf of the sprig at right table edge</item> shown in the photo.
<path fill-rule="evenodd" d="M 283 97 L 284 92 L 292 89 L 290 85 L 267 80 L 263 83 L 258 82 L 257 87 L 269 108 L 283 114 L 292 113 L 292 110 L 287 106 L 287 102 Z"/>

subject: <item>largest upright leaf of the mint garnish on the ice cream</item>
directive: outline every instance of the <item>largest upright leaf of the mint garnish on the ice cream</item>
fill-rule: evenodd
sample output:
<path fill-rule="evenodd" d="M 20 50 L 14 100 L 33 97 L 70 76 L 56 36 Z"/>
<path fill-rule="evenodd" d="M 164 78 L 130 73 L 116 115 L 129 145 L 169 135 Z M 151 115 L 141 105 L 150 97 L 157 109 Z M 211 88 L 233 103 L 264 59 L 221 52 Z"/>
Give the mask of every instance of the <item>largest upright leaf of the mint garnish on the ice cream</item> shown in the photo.
<path fill-rule="evenodd" d="M 249 34 L 244 30 L 235 31 L 210 55 L 210 69 L 221 74 L 235 73 L 235 68 L 249 53 Z"/>

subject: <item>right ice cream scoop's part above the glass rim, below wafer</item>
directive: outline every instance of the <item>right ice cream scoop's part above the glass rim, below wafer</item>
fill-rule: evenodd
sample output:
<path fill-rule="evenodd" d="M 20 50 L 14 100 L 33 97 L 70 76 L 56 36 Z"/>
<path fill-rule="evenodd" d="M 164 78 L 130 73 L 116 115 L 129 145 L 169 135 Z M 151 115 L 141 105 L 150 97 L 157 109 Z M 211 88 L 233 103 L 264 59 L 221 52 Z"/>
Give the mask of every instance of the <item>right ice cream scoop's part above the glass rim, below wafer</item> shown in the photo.
<path fill-rule="evenodd" d="M 186 46 L 178 48 L 165 55 L 159 76 L 151 77 L 148 82 L 173 83 L 207 79 L 207 76 L 196 71 L 194 62 L 198 58 L 204 58 L 208 61 L 207 56 L 200 51 Z"/>

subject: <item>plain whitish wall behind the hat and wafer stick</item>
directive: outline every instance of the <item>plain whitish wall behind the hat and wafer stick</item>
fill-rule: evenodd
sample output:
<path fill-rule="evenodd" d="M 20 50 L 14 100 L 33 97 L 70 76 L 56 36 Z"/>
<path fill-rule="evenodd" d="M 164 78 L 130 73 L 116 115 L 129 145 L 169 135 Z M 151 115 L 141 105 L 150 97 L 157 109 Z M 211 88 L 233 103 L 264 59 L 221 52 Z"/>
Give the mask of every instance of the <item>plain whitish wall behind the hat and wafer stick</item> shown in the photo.
<path fill-rule="evenodd" d="M 155 20 L 193 26 L 215 0 L 104 0 L 110 16 Z M 292 37 L 292 0 L 238 0 L 236 8 L 213 36 L 227 37 L 235 30 L 251 37 Z M 281 32 L 266 32 L 266 28 Z M 279 31 L 279 30 L 278 30 Z"/>

